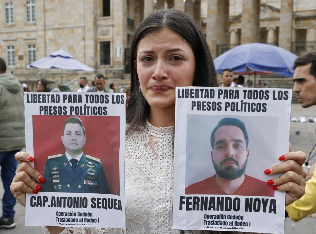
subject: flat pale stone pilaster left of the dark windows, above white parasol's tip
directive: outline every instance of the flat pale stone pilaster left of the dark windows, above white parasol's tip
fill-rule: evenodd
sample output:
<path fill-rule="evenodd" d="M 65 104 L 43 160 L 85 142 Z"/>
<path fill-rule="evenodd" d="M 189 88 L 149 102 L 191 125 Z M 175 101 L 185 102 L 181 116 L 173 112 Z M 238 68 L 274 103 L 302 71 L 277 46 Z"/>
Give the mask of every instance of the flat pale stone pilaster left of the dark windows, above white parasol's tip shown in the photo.
<path fill-rule="evenodd" d="M 94 0 L 85 0 L 84 2 L 84 62 L 93 68 L 97 63 L 97 29 L 96 29 L 96 4 Z"/>

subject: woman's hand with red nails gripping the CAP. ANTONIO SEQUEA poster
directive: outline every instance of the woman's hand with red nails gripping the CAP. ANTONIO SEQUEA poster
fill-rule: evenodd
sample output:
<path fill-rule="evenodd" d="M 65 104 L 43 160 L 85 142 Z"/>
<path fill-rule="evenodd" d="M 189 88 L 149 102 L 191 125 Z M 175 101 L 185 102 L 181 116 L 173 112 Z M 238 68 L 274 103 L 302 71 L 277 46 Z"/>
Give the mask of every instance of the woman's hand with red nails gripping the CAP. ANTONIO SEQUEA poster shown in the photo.
<path fill-rule="evenodd" d="M 37 182 L 44 183 L 45 179 L 40 172 L 36 171 L 27 163 L 34 161 L 31 155 L 25 152 L 18 152 L 15 154 L 15 159 L 20 165 L 15 171 L 15 177 L 12 180 L 10 190 L 16 200 L 18 200 L 21 205 L 25 206 L 25 194 L 37 194 L 42 189 Z"/>

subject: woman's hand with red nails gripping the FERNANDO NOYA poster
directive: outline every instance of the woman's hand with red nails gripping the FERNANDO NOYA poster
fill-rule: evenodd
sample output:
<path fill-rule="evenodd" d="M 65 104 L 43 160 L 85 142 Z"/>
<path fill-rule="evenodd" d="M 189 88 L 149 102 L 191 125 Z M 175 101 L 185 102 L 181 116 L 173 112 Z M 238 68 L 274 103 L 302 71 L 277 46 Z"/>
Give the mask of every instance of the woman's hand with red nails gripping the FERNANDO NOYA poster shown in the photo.
<path fill-rule="evenodd" d="M 288 206 L 305 194 L 306 172 L 302 165 L 306 154 L 301 151 L 291 152 L 290 144 L 289 153 L 282 155 L 279 160 L 284 162 L 265 170 L 264 173 L 274 175 L 285 172 L 282 176 L 268 180 L 268 183 L 273 185 L 275 190 L 286 192 L 285 206 Z"/>

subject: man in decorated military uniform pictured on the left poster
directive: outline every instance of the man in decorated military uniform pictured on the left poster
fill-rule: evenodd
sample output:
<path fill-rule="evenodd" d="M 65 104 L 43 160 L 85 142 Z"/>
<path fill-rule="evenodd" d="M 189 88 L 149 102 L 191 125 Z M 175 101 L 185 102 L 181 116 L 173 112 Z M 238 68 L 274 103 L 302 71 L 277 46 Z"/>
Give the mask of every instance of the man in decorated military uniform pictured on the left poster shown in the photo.
<path fill-rule="evenodd" d="M 86 139 L 81 119 L 69 117 L 61 137 L 66 152 L 47 158 L 42 191 L 110 194 L 100 159 L 83 153 Z"/>

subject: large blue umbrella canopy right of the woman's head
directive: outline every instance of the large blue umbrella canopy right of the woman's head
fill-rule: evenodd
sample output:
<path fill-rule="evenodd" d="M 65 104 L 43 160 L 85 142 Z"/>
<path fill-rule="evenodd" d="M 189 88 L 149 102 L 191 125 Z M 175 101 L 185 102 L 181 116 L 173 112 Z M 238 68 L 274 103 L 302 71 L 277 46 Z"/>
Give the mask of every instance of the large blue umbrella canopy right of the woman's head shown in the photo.
<path fill-rule="evenodd" d="M 297 55 L 274 45 L 250 43 L 238 45 L 214 59 L 218 73 L 230 68 L 234 72 L 270 71 L 281 75 L 293 75 Z"/>

